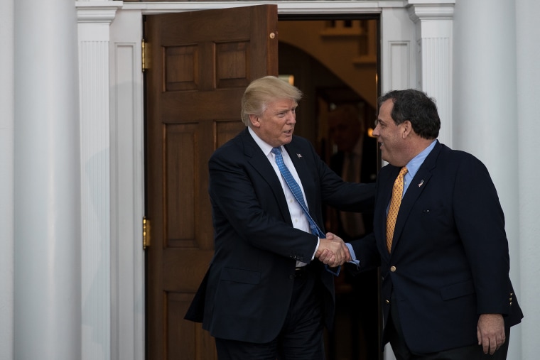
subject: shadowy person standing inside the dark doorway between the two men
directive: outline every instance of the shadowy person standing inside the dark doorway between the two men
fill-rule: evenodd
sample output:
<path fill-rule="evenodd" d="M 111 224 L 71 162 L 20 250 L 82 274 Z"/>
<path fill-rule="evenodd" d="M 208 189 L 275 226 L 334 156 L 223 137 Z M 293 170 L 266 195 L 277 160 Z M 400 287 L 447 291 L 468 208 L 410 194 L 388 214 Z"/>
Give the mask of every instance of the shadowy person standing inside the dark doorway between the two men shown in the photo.
<path fill-rule="evenodd" d="M 336 152 L 330 157 L 330 168 L 347 182 L 374 182 L 377 178 L 377 140 L 369 136 L 365 124 L 364 104 L 347 102 L 332 104 L 328 114 L 329 135 Z M 372 231 L 373 215 L 364 212 L 341 212 L 328 209 L 330 231 L 340 234 L 344 241 L 359 239 Z M 336 283 L 336 321 L 343 319 L 350 334 L 343 334 L 337 323 L 330 334 L 335 351 L 330 357 L 339 358 L 341 343 L 349 346 L 351 360 L 377 360 L 379 349 L 379 271 L 377 268 L 352 276 L 340 274 Z M 335 352 L 338 352 L 338 355 Z M 330 359 L 331 360 L 331 359 Z"/>

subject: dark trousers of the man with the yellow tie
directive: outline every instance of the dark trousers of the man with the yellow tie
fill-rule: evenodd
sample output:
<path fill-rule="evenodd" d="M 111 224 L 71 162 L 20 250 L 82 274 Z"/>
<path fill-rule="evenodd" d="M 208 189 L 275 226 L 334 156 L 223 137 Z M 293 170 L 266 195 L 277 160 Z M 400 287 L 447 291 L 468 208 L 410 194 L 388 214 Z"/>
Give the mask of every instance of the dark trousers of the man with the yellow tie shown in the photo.
<path fill-rule="evenodd" d="M 388 334 L 392 351 L 397 360 L 505 360 L 508 353 L 508 342 L 510 340 L 510 328 L 505 329 L 506 342 L 495 354 L 484 354 L 480 345 L 470 345 L 468 347 L 458 347 L 445 351 L 439 351 L 430 354 L 414 354 L 407 347 L 401 331 L 401 322 L 396 305 L 396 298 L 392 295 L 392 305 L 390 309 L 390 318 L 387 322 Z"/>

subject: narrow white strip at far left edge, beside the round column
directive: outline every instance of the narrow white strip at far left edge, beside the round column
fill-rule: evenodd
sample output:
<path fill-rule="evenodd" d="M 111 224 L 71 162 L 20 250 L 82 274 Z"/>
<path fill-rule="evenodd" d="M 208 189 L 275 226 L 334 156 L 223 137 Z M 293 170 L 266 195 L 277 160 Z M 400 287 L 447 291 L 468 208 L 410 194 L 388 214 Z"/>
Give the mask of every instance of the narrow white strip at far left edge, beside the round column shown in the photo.
<path fill-rule="evenodd" d="M 13 0 L 0 11 L 0 359 L 13 359 L 13 128 L 14 128 L 14 17 Z"/>

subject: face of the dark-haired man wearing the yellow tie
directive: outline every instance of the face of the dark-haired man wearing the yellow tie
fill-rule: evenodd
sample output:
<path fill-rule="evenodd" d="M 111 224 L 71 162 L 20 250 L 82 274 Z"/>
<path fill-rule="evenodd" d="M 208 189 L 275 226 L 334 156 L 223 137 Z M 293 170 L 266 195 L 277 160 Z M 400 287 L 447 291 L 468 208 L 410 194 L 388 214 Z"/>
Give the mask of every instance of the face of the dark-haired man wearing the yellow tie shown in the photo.
<path fill-rule="evenodd" d="M 377 126 L 373 130 L 373 136 L 377 136 L 380 144 L 382 160 L 395 166 L 404 166 L 404 124 L 396 125 L 391 113 L 394 108 L 392 99 L 383 102 L 379 109 Z"/>

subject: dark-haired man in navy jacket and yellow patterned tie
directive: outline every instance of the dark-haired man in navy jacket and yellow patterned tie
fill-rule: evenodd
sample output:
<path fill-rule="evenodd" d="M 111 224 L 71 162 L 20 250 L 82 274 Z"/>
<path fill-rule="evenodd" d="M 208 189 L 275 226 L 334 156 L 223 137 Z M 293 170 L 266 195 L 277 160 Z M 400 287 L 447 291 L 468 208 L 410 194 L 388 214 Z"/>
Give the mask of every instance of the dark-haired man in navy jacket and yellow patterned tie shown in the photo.
<path fill-rule="evenodd" d="M 485 165 L 439 143 L 440 127 L 423 92 L 379 99 L 373 134 L 389 165 L 377 177 L 374 233 L 352 242 L 353 271 L 380 266 L 383 344 L 398 360 L 506 359 L 523 314 L 504 214 Z"/>

